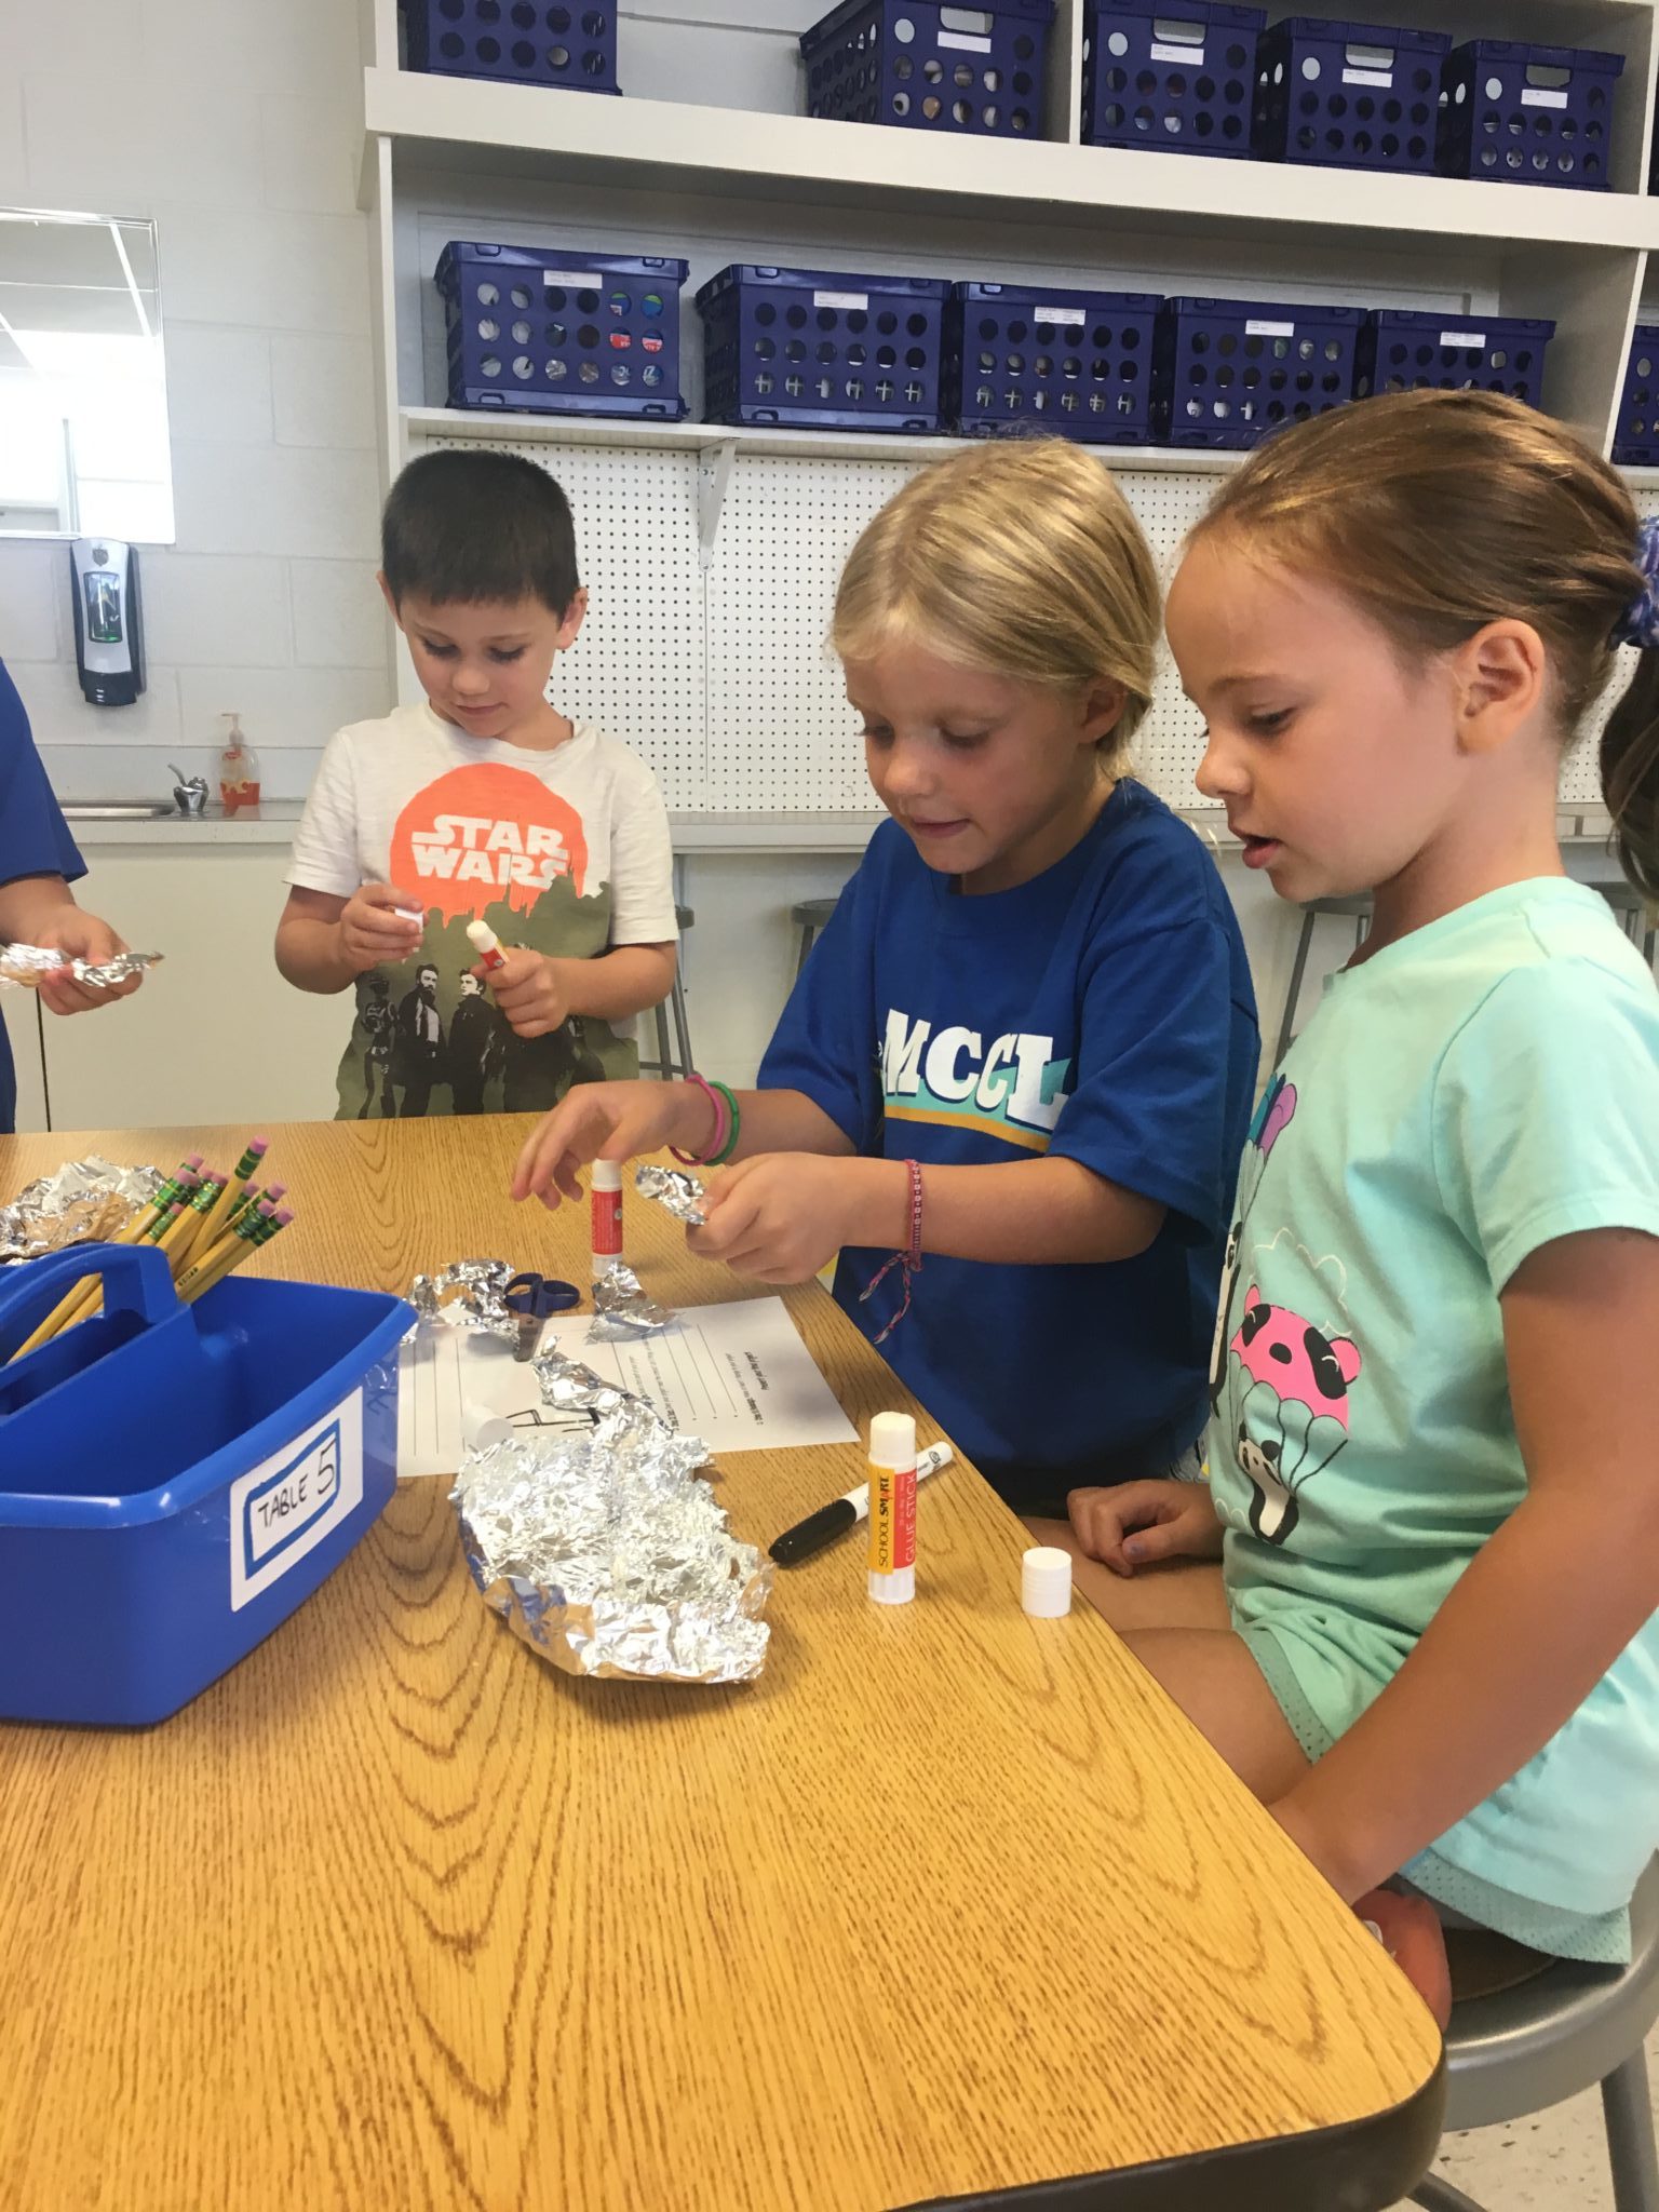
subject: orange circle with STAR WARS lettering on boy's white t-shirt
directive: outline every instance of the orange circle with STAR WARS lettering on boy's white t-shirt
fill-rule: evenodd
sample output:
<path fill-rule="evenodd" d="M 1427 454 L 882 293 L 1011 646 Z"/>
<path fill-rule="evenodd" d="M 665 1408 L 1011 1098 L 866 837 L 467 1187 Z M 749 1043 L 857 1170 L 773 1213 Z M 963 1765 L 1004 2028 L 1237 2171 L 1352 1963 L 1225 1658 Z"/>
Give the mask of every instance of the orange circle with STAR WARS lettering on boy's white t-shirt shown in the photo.
<path fill-rule="evenodd" d="M 582 898 L 586 874 L 582 816 L 524 768 L 451 768 L 392 832 L 392 880 L 445 920 L 502 902 L 529 914 L 560 876 Z"/>

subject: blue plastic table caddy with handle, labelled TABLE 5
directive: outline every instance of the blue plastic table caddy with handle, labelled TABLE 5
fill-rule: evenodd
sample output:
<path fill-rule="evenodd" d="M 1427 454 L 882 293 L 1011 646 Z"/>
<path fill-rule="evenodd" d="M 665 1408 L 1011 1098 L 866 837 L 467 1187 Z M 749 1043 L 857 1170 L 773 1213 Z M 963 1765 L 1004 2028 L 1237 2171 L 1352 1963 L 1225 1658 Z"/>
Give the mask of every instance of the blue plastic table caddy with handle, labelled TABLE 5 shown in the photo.
<path fill-rule="evenodd" d="M 398 1473 L 400 1298 L 153 1245 L 7 1270 L 0 1358 L 88 1274 L 104 1312 L 0 1367 L 0 1714 L 164 1721 L 334 1573 Z"/>

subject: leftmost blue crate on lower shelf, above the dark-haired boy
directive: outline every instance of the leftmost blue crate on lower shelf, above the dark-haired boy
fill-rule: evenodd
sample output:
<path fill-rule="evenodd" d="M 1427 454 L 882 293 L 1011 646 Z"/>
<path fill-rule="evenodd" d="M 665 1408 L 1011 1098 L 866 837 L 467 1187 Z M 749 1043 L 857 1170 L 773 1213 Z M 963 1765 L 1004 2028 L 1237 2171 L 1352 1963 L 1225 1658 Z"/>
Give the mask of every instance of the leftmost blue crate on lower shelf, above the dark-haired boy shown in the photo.
<path fill-rule="evenodd" d="M 434 281 L 445 301 L 451 407 L 666 422 L 686 414 L 684 261 L 451 239 Z"/>

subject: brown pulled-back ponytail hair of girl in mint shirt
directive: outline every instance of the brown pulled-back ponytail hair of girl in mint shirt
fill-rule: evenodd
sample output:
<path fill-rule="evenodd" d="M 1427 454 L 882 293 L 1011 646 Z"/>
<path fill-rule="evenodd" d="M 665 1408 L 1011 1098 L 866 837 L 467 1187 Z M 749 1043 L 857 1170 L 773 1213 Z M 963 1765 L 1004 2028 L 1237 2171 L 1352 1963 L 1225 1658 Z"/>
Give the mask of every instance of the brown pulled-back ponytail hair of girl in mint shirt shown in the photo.
<path fill-rule="evenodd" d="M 1544 639 L 1566 739 L 1613 675 L 1613 626 L 1646 588 L 1617 469 L 1493 392 L 1389 392 L 1301 422 L 1245 460 L 1194 538 L 1347 593 L 1411 657 L 1489 622 Z M 1659 653 L 1601 734 L 1619 863 L 1659 896 Z"/>

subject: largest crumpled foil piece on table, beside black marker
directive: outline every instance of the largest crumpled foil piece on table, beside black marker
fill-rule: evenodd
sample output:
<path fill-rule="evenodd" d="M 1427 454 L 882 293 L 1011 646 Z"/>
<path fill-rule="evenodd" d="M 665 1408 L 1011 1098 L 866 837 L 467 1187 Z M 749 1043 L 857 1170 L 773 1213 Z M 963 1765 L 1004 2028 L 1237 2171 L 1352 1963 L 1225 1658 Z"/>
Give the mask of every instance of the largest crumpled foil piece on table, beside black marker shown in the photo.
<path fill-rule="evenodd" d="M 580 1400 L 597 1427 L 526 1431 L 462 1462 L 451 1500 L 484 1604 L 566 1674 L 750 1681 L 772 1562 L 730 1535 L 697 1473 L 701 1438 L 577 1360 L 535 1367 L 549 1402 Z"/>

